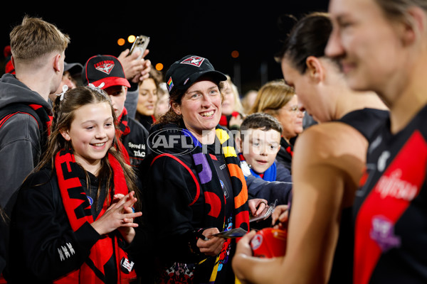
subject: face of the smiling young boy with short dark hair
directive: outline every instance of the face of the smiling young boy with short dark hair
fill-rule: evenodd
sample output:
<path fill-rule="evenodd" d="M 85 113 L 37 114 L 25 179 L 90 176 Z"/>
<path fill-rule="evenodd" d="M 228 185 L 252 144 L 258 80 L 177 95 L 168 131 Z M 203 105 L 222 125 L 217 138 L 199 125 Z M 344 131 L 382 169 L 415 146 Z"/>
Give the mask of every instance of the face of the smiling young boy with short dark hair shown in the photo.
<path fill-rule="evenodd" d="M 262 174 L 273 165 L 280 149 L 280 133 L 274 129 L 248 129 L 243 133 L 241 150 L 255 173 Z"/>

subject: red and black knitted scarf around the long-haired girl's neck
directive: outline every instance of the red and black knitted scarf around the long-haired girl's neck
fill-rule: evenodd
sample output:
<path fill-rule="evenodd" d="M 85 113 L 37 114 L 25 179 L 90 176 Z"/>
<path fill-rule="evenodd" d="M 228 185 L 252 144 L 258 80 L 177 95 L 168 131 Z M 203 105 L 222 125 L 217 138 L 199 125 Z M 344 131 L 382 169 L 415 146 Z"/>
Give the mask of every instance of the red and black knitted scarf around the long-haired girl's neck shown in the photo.
<path fill-rule="evenodd" d="M 118 193 L 127 195 L 127 184 L 120 163 L 110 153 L 108 159 L 114 172 L 114 192 L 110 192 L 111 196 Z M 77 231 L 86 222 L 94 222 L 90 202 L 79 180 L 77 167 L 72 151 L 62 150 L 56 154 L 55 168 L 60 195 L 73 231 Z M 98 219 L 108 206 L 106 198 Z M 120 248 L 119 241 L 122 240 L 118 239 L 117 234 L 105 235 L 90 249 L 89 257 L 77 271 L 68 273 L 56 283 L 105 283 L 108 271 L 104 271 L 104 265 L 113 257 L 117 265 L 117 283 L 128 283 L 135 279 L 135 271 L 129 269 L 132 263 L 127 258 L 127 253 Z"/>

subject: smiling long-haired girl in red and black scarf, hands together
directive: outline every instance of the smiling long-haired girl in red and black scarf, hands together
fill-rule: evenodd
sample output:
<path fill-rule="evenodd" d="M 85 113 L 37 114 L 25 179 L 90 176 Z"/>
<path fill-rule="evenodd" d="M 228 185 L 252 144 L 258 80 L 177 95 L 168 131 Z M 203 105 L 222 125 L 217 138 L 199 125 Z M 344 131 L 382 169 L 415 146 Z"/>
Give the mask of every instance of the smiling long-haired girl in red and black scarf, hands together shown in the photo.
<path fill-rule="evenodd" d="M 11 217 L 14 283 L 136 278 L 126 251 L 142 213 L 132 212 L 134 176 L 117 147 L 115 120 L 101 89 L 78 87 L 56 99 L 48 150 L 19 190 Z"/>

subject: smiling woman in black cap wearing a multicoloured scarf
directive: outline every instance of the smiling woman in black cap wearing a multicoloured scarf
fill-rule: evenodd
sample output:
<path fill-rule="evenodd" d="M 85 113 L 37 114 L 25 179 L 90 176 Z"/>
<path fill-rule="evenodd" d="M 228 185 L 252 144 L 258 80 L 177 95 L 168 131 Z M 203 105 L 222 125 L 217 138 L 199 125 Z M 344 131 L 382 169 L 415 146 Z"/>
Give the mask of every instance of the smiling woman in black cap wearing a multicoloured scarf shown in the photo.
<path fill-rule="evenodd" d="M 225 80 L 209 60 L 196 55 L 174 62 L 166 73 L 171 108 L 150 130 L 146 191 L 159 283 L 235 280 L 236 241 L 213 236 L 249 227 L 240 161 L 230 132 L 218 125 Z M 258 201 L 250 202 L 255 209 Z"/>

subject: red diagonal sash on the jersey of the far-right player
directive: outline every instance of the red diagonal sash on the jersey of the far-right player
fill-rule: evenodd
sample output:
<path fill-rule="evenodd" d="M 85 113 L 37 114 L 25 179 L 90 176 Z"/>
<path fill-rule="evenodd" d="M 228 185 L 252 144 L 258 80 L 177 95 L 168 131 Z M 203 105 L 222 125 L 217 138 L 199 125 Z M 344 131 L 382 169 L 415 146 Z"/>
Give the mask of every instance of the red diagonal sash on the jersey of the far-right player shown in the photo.
<path fill-rule="evenodd" d="M 381 164 L 381 156 L 378 163 Z M 426 167 L 427 142 L 419 131 L 415 131 L 384 170 L 357 214 L 354 236 L 355 284 L 369 283 L 381 254 L 401 246 L 400 236 L 394 233 L 394 226 L 411 201 L 418 196 L 426 178 Z"/>

